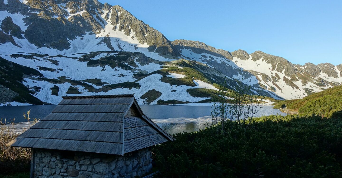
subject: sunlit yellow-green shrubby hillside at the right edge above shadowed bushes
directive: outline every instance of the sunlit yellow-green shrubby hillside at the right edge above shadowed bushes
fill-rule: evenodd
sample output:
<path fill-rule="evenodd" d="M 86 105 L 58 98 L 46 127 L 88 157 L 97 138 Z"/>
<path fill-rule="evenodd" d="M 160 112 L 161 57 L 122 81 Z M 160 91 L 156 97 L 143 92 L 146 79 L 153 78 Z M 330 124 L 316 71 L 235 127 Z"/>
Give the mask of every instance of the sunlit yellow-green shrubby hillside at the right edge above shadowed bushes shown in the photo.
<path fill-rule="evenodd" d="M 342 86 L 335 86 L 302 99 L 278 101 L 273 105 L 276 109 L 286 107 L 303 114 L 313 113 L 336 118 L 342 115 Z"/>

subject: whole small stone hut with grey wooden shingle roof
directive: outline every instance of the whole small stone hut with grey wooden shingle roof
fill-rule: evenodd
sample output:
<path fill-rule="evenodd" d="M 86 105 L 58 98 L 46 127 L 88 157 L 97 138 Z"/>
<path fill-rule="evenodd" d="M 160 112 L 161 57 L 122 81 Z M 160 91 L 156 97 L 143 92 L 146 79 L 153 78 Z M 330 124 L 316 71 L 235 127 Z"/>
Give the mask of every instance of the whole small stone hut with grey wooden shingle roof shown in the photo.
<path fill-rule="evenodd" d="M 151 146 L 173 140 L 131 94 L 64 96 L 7 146 L 32 148 L 32 178 L 129 178 L 150 172 Z"/>

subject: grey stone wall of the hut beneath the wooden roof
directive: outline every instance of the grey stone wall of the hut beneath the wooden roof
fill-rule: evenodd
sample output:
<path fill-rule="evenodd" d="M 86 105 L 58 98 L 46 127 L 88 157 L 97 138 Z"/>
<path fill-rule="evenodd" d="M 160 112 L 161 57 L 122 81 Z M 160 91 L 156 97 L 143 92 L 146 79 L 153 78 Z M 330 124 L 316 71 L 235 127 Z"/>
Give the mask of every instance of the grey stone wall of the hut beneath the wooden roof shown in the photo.
<path fill-rule="evenodd" d="M 152 168 L 149 148 L 123 156 L 34 149 L 34 178 L 119 178 L 144 176 Z"/>

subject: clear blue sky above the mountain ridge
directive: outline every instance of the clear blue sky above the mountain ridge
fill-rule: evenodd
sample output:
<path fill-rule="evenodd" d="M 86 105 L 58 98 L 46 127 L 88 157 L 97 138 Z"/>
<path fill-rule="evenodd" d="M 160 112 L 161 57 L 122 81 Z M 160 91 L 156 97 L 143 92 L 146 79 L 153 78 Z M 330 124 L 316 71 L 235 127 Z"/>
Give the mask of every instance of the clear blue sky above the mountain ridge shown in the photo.
<path fill-rule="evenodd" d="M 294 64 L 342 63 L 342 1 L 100 0 L 120 5 L 169 40 L 260 50 Z"/>

